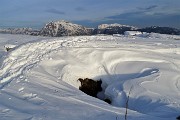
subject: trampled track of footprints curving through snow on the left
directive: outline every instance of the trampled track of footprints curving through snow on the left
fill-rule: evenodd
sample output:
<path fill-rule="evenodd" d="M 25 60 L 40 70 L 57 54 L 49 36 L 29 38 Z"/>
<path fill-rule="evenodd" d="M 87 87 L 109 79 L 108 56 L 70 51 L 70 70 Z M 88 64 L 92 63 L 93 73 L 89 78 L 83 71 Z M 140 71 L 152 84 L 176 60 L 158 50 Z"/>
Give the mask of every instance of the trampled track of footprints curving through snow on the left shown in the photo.
<path fill-rule="evenodd" d="M 62 47 L 68 47 L 72 42 L 71 40 L 55 39 L 20 46 L 11 52 L 2 64 L 0 70 L 0 88 L 22 74 L 25 69 L 30 69 L 36 65 L 44 56 Z"/>

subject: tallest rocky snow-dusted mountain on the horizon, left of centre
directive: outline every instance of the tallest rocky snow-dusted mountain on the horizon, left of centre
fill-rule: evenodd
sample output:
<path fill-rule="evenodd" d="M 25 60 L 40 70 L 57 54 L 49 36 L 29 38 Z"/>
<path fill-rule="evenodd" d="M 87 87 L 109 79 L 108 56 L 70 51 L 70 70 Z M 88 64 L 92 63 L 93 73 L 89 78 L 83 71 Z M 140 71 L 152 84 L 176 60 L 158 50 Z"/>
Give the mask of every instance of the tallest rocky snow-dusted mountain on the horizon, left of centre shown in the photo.
<path fill-rule="evenodd" d="M 84 26 L 73 24 L 64 20 L 50 22 L 45 25 L 40 34 L 43 36 L 79 36 L 91 35 L 92 29 Z"/>

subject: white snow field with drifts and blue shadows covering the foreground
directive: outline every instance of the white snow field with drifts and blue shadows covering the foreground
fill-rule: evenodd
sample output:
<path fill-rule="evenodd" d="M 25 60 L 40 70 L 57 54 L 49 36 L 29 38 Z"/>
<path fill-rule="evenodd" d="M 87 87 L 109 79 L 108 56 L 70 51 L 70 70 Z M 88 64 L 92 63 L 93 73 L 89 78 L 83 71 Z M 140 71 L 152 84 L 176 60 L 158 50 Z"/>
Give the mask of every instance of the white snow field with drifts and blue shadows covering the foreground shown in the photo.
<path fill-rule="evenodd" d="M 180 36 L 0 34 L 0 120 L 175 120 Z M 5 45 L 14 45 L 6 52 Z M 78 78 L 102 80 L 99 98 Z"/>

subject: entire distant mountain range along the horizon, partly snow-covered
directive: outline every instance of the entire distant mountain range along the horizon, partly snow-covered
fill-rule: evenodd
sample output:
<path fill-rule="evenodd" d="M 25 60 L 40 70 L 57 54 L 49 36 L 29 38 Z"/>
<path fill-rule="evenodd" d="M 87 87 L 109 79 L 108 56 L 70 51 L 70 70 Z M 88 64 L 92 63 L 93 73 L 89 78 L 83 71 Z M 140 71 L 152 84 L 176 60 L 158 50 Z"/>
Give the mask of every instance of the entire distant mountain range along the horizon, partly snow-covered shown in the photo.
<path fill-rule="evenodd" d="M 47 23 L 41 30 L 32 28 L 8 28 L 0 29 L 0 33 L 10 34 L 27 34 L 40 36 L 80 36 L 80 35 L 95 35 L 95 34 L 124 34 L 125 31 L 140 31 L 140 32 L 154 32 L 161 34 L 180 35 L 180 29 L 171 27 L 151 26 L 145 28 L 137 28 L 129 25 L 121 24 L 101 24 L 96 28 L 87 28 L 82 25 L 74 24 L 65 20 Z"/>

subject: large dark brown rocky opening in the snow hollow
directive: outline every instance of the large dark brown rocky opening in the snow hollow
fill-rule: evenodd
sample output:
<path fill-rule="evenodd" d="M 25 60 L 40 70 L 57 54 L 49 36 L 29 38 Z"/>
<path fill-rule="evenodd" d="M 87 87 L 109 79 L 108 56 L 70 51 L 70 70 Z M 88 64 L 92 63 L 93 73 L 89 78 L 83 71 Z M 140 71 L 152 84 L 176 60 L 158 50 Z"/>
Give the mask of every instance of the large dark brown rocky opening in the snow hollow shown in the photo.
<path fill-rule="evenodd" d="M 97 93 L 102 91 L 102 81 L 95 81 L 92 79 L 78 79 L 81 82 L 81 86 L 79 87 L 79 90 L 83 91 L 84 93 L 97 98 Z"/>

